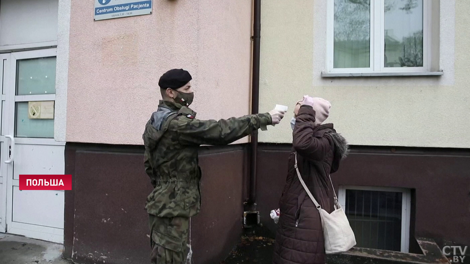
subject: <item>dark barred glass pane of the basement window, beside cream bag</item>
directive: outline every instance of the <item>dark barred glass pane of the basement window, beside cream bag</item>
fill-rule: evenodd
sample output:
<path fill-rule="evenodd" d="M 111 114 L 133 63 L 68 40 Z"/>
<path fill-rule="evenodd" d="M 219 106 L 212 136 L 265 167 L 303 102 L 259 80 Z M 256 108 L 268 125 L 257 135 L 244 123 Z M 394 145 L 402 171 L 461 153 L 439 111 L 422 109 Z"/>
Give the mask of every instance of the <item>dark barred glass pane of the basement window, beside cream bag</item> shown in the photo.
<path fill-rule="evenodd" d="M 346 190 L 345 207 L 356 247 L 400 251 L 402 193 Z"/>

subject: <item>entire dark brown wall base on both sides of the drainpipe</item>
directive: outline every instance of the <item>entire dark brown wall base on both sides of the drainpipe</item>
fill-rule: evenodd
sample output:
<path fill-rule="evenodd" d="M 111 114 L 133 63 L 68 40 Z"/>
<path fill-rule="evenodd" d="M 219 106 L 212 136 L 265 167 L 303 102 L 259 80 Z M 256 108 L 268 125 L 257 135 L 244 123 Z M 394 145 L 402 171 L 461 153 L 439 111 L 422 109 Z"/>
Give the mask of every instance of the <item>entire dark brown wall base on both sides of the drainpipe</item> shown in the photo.
<path fill-rule="evenodd" d="M 240 239 L 248 193 L 247 148 L 201 148 L 203 207 L 191 219 L 195 264 L 218 264 Z M 351 148 L 332 175 L 336 190 L 339 185 L 410 188 L 410 237 L 429 237 L 439 246 L 470 245 L 469 150 Z M 274 237 L 269 213 L 278 208 L 290 149 L 288 144 L 258 148 L 256 202 L 262 235 Z M 149 263 L 144 206 L 152 187 L 143 171 L 143 147 L 67 143 L 65 166 L 73 182 L 65 194 L 63 256 L 77 263 Z M 411 242 L 411 252 L 419 251 L 416 241 Z"/>

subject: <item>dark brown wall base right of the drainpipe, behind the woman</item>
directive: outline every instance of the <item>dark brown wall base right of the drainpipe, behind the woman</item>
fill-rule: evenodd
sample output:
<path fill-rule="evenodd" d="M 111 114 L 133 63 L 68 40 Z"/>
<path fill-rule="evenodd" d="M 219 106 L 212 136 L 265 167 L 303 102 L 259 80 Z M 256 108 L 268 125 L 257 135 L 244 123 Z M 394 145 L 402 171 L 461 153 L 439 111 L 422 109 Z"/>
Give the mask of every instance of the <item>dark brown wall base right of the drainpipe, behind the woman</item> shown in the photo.
<path fill-rule="evenodd" d="M 279 208 L 291 146 L 265 144 L 258 151 L 260 221 L 274 236 L 276 226 L 269 213 Z M 446 239 L 470 245 L 468 149 L 351 146 L 349 157 L 331 178 L 335 190 L 339 185 L 410 188 L 414 196 L 410 237 L 429 237 L 439 244 Z"/>

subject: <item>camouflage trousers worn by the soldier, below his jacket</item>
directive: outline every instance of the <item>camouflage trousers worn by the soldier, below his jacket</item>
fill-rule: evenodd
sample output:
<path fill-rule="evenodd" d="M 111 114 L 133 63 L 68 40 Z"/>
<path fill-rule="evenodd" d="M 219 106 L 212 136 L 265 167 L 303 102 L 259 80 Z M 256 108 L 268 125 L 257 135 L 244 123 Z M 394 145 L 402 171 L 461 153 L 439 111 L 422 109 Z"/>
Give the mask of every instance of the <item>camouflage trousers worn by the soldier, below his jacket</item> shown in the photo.
<path fill-rule="evenodd" d="M 189 264 L 189 218 L 149 214 L 152 264 Z"/>

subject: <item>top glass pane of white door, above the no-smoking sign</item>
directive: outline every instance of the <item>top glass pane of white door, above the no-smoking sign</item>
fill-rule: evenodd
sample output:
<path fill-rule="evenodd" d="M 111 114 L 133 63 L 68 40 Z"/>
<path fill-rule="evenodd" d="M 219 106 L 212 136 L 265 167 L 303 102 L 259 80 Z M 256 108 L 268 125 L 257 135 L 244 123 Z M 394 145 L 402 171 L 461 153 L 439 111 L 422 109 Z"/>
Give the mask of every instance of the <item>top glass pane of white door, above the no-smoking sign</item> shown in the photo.
<path fill-rule="evenodd" d="M 16 62 L 16 95 L 55 93 L 55 57 Z"/>

